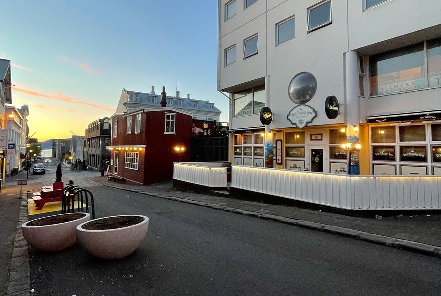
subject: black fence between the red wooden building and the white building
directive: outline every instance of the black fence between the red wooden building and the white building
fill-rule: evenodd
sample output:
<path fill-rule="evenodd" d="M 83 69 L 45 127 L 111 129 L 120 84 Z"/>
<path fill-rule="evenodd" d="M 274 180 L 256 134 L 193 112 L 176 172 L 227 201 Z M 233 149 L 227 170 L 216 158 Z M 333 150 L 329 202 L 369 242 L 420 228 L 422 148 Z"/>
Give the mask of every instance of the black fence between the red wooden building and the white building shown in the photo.
<path fill-rule="evenodd" d="M 192 138 L 191 161 L 228 161 L 228 137 Z"/>

